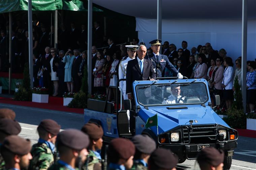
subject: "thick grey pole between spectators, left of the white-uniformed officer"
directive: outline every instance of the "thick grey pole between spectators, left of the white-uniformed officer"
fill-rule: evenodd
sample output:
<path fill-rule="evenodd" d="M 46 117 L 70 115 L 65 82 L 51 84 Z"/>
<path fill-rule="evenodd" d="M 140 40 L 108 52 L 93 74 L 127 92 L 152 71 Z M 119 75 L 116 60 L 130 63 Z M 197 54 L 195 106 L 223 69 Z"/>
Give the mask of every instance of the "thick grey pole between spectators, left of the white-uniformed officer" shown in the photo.
<path fill-rule="evenodd" d="M 92 93 L 92 0 L 88 0 L 88 93 Z"/>

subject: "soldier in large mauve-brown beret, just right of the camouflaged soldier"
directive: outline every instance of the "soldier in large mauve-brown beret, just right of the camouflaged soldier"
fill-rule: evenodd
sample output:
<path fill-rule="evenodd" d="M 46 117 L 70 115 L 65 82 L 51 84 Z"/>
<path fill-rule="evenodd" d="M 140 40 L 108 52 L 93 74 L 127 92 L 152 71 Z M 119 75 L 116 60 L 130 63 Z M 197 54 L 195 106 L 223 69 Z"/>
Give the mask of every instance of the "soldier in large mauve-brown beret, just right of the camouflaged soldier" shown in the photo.
<path fill-rule="evenodd" d="M 77 129 L 67 129 L 57 135 L 56 146 L 60 159 L 49 170 L 74 170 L 85 163 L 89 137 Z"/>

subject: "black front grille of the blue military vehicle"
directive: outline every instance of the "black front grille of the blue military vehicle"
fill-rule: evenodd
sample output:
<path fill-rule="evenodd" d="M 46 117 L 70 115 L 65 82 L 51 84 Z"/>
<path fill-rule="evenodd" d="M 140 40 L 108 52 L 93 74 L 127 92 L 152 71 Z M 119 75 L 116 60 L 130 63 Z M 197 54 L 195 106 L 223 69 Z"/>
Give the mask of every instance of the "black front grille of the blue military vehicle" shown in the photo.
<path fill-rule="evenodd" d="M 183 143 L 200 144 L 200 143 L 215 143 L 217 135 L 214 125 L 193 126 L 192 129 L 182 128 Z M 190 136 L 190 142 L 189 142 Z"/>

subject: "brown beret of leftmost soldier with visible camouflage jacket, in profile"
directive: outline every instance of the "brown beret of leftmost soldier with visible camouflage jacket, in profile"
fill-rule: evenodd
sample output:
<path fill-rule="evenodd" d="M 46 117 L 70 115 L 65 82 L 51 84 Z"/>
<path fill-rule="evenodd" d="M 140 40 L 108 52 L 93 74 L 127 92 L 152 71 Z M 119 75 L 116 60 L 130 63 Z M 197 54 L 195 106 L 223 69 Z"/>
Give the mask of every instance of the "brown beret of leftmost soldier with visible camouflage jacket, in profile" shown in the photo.
<path fill-rule="evenodd" d="M 43 128 L 53 135 L 57 135 L 60 132 L 60 125 L 52 119 L 42 120 L 38 127 Z"/>

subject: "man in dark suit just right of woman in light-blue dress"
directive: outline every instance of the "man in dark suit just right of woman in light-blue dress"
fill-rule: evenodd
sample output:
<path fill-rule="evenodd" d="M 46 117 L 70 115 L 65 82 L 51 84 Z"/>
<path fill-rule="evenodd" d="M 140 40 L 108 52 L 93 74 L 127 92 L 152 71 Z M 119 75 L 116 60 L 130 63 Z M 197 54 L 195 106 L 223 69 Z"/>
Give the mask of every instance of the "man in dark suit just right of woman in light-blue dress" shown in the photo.
<path fill-rule="evenodd" d="M 80 90 L 81 87 L 79 87 L 80 83 L 79 83 L 79 66 L 82 62 L 82 57 L 79 55 L 79 51 L 78 50 L 74 50 L 74 61 L 72 63 L 72 69 L 71 69 L 71 77 L 73 79 L 73 84 L 74 84 L 74 92 L 78 92 Z"/>

